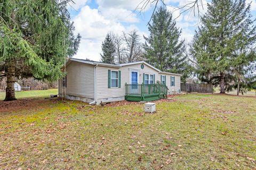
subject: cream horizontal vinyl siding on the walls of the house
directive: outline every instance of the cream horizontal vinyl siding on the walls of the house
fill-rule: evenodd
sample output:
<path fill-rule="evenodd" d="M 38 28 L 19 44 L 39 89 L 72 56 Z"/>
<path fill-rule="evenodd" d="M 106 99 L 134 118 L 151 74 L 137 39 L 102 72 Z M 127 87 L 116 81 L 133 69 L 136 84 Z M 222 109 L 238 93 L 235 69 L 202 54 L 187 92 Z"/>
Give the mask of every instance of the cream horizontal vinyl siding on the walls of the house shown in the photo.
<path fill-rule="evenodd" d="M 94 66 L 92 64 L 85 64 L 72 61 L 66 67 L 67 71 L 67 88 L 66 94 L 70 96 L 78 96 L 94 99 Z M 161 81 L 161 75 L 166 76 L 166 86 L 169 88 L 169 94 L 173 91 L 180 90 L 180 76 L 172 74 L 159 74 L 157 70 L 144 64 L 144 69 L 141 69 L 141 63 L 133 65 L 125 65 L 122 67 L 111 66 L 97 66 L 97 101 L 100 103 L 111 100 L 111 98 L 123 98 L 125 96 L 125 83 L 130 84 L 131 71 L 138 72 L 138 83 L 143 82 L 143 74 L 149 75 L 149 83 L 155 83 Z M 108 88 L 108 70 L 121 71 L 121 87 L 120 88 Z M 119 73 L 118 73 L 119 74 Z M 171 87 L 171 76 L 175 76 L 175 86 Z M 111 77 L 110 77 L 111 78 Z M 114 79 L 113 79 L 114 81 Z M 115 80 L 116 81 L 116 80 Z M 118 80 L 119 81 L 119 80 Z M 61 80 L 59 81 L 59 94 L 62 92 Z M 118 82 L 117 82 L 118 86 Z"/>

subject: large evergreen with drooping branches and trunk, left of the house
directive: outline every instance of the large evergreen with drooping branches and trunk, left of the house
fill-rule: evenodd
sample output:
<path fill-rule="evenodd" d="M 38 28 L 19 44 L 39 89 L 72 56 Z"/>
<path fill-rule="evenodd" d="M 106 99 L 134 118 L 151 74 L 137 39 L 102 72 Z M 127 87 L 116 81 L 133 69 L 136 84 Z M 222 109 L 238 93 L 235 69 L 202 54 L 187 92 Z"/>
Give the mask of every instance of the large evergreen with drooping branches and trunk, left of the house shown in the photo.
<path fill-rule="evenodd" d="M 74 36 L 66 1 L 4 0 L 0 3 L 0 77 L 7 78 L 5 100 L 15 100 L 15 78 L 56 81 L 73 56 Z"/>

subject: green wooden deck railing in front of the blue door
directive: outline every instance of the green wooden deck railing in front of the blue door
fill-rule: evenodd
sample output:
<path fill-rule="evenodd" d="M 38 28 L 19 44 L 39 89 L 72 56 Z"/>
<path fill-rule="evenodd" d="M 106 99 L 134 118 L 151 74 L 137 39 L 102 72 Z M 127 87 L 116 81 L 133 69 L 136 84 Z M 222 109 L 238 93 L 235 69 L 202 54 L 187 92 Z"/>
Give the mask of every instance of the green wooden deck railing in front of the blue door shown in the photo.
<path fill-rule="evenodd" d="M 166 97 L 167 91 L 165 84 L 125 84 L 125 98 L 135 98 L 136 101 Z"/>

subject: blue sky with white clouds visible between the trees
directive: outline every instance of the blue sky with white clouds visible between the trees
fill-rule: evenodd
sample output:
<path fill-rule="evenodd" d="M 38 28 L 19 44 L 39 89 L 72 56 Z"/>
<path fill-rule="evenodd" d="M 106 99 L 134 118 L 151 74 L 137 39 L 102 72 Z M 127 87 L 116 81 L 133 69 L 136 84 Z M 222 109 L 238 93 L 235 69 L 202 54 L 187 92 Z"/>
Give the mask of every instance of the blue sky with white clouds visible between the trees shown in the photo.
<path fill-rule="evenodd" d="M 153 13 L 153 6 L 148 6 L 143 13 L 133 12 L 141 0 L 73 0 L 70 3 L 69 12 L 75 24 L 75 33 L 81 33 L 81 44 L 75 58 L 89 58 L 99 61 L 101 53 L 101 43 L 105 39 L 107 32 L 122 33 L 122 31 L 138 30 L 142 36 L 149 34 L 147 23 Z M 183 6 L 191 0 L 165 0 L 167 8 L 177 18 L 180 11 L 178 6 Z M 207 2 L 203 0 L 204 10 L 207 10 Z M 249 0 L 248 3 L 251 1 Z M 176 8 L 175 8 L 176 7 Z M 256 0 L 252 1 L 252 14 L 256 14 Z M 193 13 L 183 13 L 177 18 L 177 25 L 182 29 L 182 39 L 190 41 L 197 29 L 199 20 Z"/>

